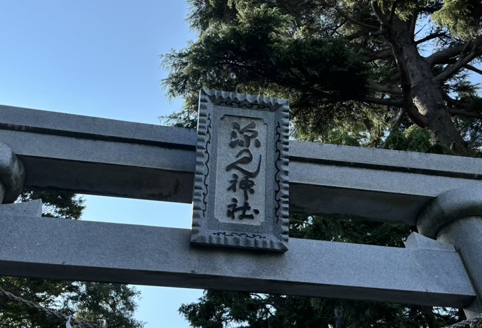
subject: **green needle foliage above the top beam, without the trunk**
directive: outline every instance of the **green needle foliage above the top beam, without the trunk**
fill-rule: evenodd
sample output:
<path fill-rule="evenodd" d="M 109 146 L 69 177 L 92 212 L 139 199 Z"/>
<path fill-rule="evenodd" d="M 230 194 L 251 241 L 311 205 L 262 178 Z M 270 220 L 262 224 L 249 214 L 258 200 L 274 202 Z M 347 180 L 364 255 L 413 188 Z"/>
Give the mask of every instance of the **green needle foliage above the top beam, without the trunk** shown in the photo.
<path fill-rule="evenodd" d="M 183 50 L 171 50 L 161 56 L 170 72 L 163 86 L 170 97 L 182 96 L 185 106 L 182 111 L 163 118 L 163 122 L 195 128 L 199 89 L 223 89 L 289 98 L 295 134 L 304 140 L 326 142 L 337 139 L 332 138 L 337 134 L 339 140 L 334 142 L 354 144 L 359 140 L 364 146 L 380 146 L 390 125 L 395 124 L 393 113 L 412 105 L 404 103 L 408 98 L 400 98 L 400 72 L 395 58 L 390 53 L 381 56 L 392 45 L 384 35 L 374 32 L 380 23 L 371 3 L 189 1 L 188 21 L 198 32 L 198 40 Z M 428 36 L 423 45 L 430 44 L 433 50 L 461 45 L 457 36 L 480 33 L 481 5 L 477 1 L 379 0 L 377 4 L 390 21 L 407 22 L 418 15 L 420 25 L 430 23 L 428 18 L 441 25 L 441 28 L 431 25 L 417 32 L 417 39 L 423 39 L 423 34 Z M 443 72 L 446 64 L 453 63 L 454 59 L 434 65 L 434 74 Z M 463 98 L 461 86 L 465 82 L 466 76 L 459 72 L 447 80 L 441 92 Z M 475 90 L 474 85 L 465 84 L 465 87 L 470 92 Z M 478 95 L 473 96 L 473 100 L 477 99 L 480 99 Z M 476 107 L 476 101 L 463 102 L 464 111 L 479 113 L 480 108 Z M 375 120 L 368 118 L 368 113 L 377 114 L 376 124 L 372 124 Z M 480 129 L 467 126 L 474 120 L 461 116 L 455 119 L 462 122 L 460 128 L 467 127 L 467 131 L 461 131 L 465 140 L 479 142 Z M 339 125 L 345 122 L 353 123 L 355 129 L 340 129 Z M 365 125 L 365 131 L 356 127 L 360 123 Z M 411 124 L 413 122 L 408 125 Z M 430 129 L 432 133 L 439 131 Z M 446 149 L 450 146 L 445 139 L 439 143 Z M 477 146 L 468 144 L 472 151 L 476 151 Z"/>

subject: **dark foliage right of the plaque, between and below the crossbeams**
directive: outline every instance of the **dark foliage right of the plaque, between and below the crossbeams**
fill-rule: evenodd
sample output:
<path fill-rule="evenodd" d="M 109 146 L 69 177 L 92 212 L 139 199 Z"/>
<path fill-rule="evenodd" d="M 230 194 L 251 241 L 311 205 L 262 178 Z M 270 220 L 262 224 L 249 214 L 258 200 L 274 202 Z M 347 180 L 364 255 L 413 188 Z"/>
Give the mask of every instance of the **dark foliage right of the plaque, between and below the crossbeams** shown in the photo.
<path fill-rule="evenodd" d="M 414 230 L 401 224 L 356 219 L 292 215 L 290 237 L 403 247 Z M 319 263 L 323 265 L 323 263 Z M 336 272 L 333 272 L 336 274 Z M 198 328 L 388 328 L 439 327 L 456 322 L 460 311 L 413 305 L 383 304 L 247 292 L 205 291 L 196 303 L 182 305 L 180 313 Z"/>

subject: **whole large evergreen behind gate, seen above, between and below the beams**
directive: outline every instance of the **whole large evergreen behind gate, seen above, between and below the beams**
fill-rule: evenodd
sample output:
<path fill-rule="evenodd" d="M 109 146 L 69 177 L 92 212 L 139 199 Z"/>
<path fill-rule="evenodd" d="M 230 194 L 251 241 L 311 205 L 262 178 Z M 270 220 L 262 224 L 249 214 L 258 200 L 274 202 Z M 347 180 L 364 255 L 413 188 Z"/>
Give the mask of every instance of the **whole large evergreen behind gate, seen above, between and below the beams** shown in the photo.
<path fill-rule="evenodd" d="M 198 40 L 163 55 L 167 94 L 196 127 L 201 87 L 288 98 L 293 137 L 480 155 L 482 54 L 472 0 L 189 0 Z M 415 227 L 292 215 L 296 238 L 403 247 Z M 322 265 L 322 263 L 320 263 Z M 459 309 L 207 291 L 192 327 L 443 327 Z"/>

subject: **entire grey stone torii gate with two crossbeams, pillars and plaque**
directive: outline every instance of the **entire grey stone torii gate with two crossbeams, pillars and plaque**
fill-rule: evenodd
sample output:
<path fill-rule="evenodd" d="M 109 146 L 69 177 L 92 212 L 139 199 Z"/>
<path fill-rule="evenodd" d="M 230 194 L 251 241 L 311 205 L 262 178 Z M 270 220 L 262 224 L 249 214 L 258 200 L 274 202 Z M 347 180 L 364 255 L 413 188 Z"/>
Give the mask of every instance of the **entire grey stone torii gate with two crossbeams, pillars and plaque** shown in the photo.
<path fill-rule="evenodd" d="M 290 141 L 289 153 L 284 149 L 275 158 L 283 165 L 289 160 L 289 181 L 280 177 L 286 166 L 277 164 L 242 171 L 251 174 L 246 182 L 253 179 L 249 186 L 255 185 L 257 193 L 264 181 L 266 195 L 271 193 L 269 181 L 275 179 L 286 194 L 273 199 L 286 210 L 289 188 L 293 213 L 417 225 L 420 234 L 410 234 L 406 248 L 287 241 L 278 223 L 265 224 L 266 213 L 278 215 L 269 197 L 262 200 L 267 205 L 260 205 L 266 205 L 266 212 L 264 207 L 258 210 L 264 219 L 253 216 L 252 223 L 238 226 L 226 218 L 199 221 L 203 213 L 205 219 L 219 216 L 209 215 L 209 201 L 218 206 L 219 195 L 213 191 L 204 197 L 204 209 L 197 205 L 192 234 L 186 229 L 42 218 L 40 201 L 8 204 L 23 186 L 188 204 L 194 190 L 196 216 L 196 186 L 241 172 L 239 167 L 230 171 L 232 163 L 222 169 L 219 155 L 211 157 L 218 164 L 217 171 L 209 173 L 213 177 L 203 173 L 206 159 L 202 162 L 199 153 L 208 150 L 202 145 L 224 154 L 228 146 L 220 135 L 242 130 L 251 131 L 249 141 L 230 144 L 232 149 L 244 147 L 232 153 L 238 163 L 249 157 L 241 157 L 247 146 L 255 147 L 249 152 L 255 160 L 258 153 L 279 151 L 283 141 L 271 134 L 280 131 L 272 123 L 285 120 L 287 110 L 286 103 L 272 98 L 210 91 L 202 93 L 200 107 L 205 124 L 201 122 L 198 135 L 187 129 L 0 106 L 0 274 L 459 307 L 468 317 L 482 311 L 479 159 Z M 208 118 L 219 122 L 217 132 L 214 126 L 208 129 Z M 234 137 L 231 134 L 231 140 Z M 263 139 L 271 142 L 263 145 Z M 244 192 L 246 201 L 250 196 Z M 202 193 L 207 190 L 198 193 L 201 198 Z M 227 213 L 234 219 L 233 212 Z M 223 227 L 232 228 L 230 237 L 212 232 Z M 216 240 L 198 239 L 195 232 L 217 233 Z M 244 244 L 241 234 L 266 240 L 274 236 L 271 245 L 277 245 L 277 252 L 257 250 L 273 250 L 268 243 Z M 229 239 L 233 236 L 238 239 Z"/>

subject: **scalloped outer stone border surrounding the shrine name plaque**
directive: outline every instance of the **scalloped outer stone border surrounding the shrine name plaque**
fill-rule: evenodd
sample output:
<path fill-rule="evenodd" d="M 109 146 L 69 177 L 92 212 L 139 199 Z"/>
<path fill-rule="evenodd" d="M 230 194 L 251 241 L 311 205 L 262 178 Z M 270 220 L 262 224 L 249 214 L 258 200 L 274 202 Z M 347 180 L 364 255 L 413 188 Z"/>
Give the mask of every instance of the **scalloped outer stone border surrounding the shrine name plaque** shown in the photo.
<path fill-rule="evenodd" d="M 209 179 L 209 161 L 211 144 L 211 118 L 207 112 L 207 102 L 214 105 L 247 107 L 277 111 L 276 131 L 280 133 L 277 140 L 276 152 L 276 181 L 278 190 L 275 195 L 277 208 L 275 208 L 275 223 L 280 227 L 280 237 L 262 235 L 263 238 L 244 236 L 238 232 L 202 232 L 200 227 L 205 222 L 206 197 L 208 193 L 207 181 Z M 264 96 L 251 96 L 235 92 L 213 91 L 201 89 L 199 96 L 198 113 L 198 140 L 196 145 L 196 172 L 193 190 L 193 221 L 191 230 L 191 243 L 193 245 L 219 245 L 233 248 L 253 248 L 286 252 L 286 243 L 289 241 L 289 101 L 286 99 L 269 98 Z M 280 163 L 280 164 L 277 164 Z"/>

